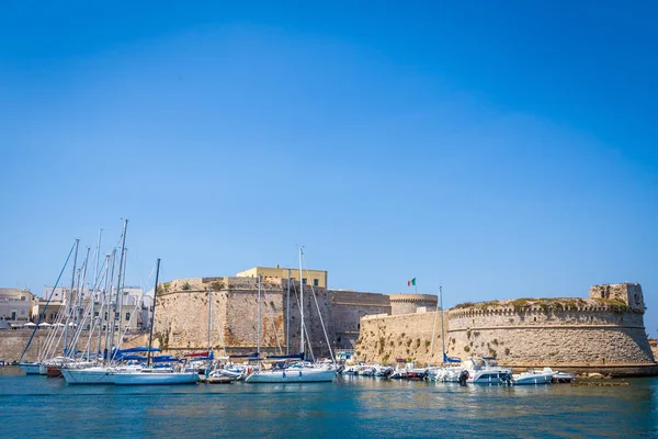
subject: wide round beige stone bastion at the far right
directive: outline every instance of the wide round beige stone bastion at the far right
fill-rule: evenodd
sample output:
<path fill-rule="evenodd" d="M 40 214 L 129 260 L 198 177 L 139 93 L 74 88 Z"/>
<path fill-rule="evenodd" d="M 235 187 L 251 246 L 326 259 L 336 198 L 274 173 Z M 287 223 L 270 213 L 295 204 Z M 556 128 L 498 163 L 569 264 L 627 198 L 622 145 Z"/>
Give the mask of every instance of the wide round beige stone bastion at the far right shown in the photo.
<path fill-rule="evenodd" d="M 624 296 L 597 290 L 590 292 L 590 299 L 457 305 L 447 313 L 447 353 L 497 357 L 501 363 L 519 368 L 595 369 L 616 374 L 648 374 L 650 369 L 654 373 L 642 290 L 636 284 L 611 286 L 623 290 Z"/>

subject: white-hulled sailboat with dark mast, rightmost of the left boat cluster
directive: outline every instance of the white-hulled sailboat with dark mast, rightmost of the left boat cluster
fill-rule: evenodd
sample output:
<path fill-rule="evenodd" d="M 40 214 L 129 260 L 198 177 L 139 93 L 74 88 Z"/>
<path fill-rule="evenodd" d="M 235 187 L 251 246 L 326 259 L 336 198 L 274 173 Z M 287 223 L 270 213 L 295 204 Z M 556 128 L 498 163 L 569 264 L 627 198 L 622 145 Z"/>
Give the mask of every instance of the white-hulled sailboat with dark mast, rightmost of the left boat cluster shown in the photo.
<path fill-rule="evenodd" d="M 156 269 L 156 289 L 154 290 L 154 312 L 151 314 L 150 333 L 148 336 L 148 357 L 145 369 L 135 371 L 115 371 L 114 384 L 118 385 L 156 385 L 156 384 L 194 384 L 198 381 L 198 374 L 194 371 L 180 372 L 173 368 L 151 368 L 151 349 L 154 340 L 154 319 L 158 297 L 158 275 L 160 273 L 160 259 L 158 258 Z"/>

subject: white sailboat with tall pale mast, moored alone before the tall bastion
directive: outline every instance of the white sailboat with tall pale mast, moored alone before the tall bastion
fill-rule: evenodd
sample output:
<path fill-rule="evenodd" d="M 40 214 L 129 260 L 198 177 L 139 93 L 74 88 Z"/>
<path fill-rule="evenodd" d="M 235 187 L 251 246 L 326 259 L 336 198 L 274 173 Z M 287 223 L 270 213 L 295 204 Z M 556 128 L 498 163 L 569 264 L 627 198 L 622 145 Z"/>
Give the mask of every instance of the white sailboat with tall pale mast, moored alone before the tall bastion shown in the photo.
<path fill-rule="evenodd" d="M 279 361 L 276 367 L 270 370 L 256 371 L 247 379 L 247 383 L 311 383 L 311 382 L 332 382 L 336 378 L 334 364 L 311 364 L 304 361 L 305 339 L 304 339 L 304 282 L 302 272 L 302 247 L 299 247 L 299 313 L 300 313 L 300 352 L 296 356 L 276 356 L 269 357 L 270 360 Z M 288 360 L 288 361 L 286 361 Z M 290 360 L 297 360 L 290 363 Z"/>

